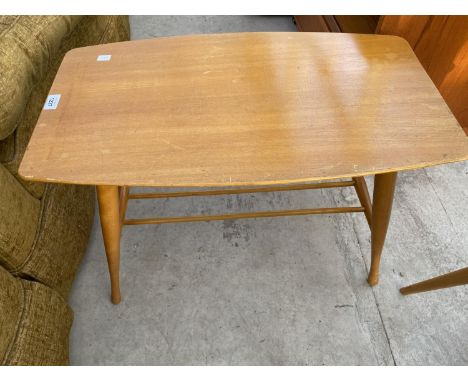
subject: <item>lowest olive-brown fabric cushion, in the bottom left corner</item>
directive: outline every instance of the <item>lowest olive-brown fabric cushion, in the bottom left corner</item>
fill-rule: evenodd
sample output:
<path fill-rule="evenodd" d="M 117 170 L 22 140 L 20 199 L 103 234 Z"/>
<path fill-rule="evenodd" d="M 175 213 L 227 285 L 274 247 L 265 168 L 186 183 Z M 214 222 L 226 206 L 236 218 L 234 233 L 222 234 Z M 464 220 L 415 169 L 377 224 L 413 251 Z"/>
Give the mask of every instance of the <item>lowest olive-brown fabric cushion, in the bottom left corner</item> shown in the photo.
<path fill-rule="evenodd" d="M 54 290 L 0 267 L 0 364 L 66 365 L 73 312 Z"/>

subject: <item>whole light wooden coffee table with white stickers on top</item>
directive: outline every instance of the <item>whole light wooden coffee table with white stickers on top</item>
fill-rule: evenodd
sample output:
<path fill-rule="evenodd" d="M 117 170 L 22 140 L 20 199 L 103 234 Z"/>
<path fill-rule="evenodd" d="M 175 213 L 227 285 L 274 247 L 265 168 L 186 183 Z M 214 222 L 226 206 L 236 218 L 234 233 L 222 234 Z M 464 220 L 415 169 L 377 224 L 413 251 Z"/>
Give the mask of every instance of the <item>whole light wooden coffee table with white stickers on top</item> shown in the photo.
<path fill-rule="evenodd" d="M 19 173 L 97 186 L 117 304 L 125 224 L 363 212 L 375 285 L 397 172 L 466 160 L 467 141 L 401 38 L 184 36 L 68 52 Z M 364 175 L 375 175 L 372 203 Z M 129 194 L 130 186 L 191 191 Z M 360 206 L 125 218 L 128 199 L 348 186 Z"/>

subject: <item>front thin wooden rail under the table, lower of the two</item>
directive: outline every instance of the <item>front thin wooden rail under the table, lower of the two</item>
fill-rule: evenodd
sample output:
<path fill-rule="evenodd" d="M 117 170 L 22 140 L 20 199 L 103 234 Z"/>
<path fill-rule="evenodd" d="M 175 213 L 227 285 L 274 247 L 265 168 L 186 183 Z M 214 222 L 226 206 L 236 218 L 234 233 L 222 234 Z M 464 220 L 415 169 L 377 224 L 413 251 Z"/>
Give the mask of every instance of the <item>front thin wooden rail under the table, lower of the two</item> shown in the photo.
<path fill-rule="evenodd" d="M 201 215 L 201 216 L 180 216 L 180 217 L 163 217 L 163 218 L 148 218 L 148 219 L 127 219 L 127 220 L 124 220 L 123 223 L 125 225 L 186 223 L 186 222 L 195 222 L 195 221 L 268 218 L 268 217 L 275 217 L 275 216 L 291 216 L 291 215 L 297 216 L 297 215 L 341 214 L 341 213 L 349 213 L 349 212 L 364 212 L 364 210 L 365 210 L 364 207 L 313 208 L 313 209 L 302 209 L 302 210 L 244 212 L 244 213 L 227 214 L 227 215 Z"/>

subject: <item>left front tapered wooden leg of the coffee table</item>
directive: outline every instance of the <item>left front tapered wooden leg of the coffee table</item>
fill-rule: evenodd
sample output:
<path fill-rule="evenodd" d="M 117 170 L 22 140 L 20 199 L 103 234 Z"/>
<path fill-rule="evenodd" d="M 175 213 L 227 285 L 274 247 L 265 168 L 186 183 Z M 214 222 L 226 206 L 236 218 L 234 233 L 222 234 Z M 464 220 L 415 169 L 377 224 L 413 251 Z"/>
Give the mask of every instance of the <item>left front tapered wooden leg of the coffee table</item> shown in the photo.
<path fill-rule="evenodd" d="M 120 303 L 120 209 L 117 186 L 97 186 L 99 216 L 111 281 L 111 300 Z"/>

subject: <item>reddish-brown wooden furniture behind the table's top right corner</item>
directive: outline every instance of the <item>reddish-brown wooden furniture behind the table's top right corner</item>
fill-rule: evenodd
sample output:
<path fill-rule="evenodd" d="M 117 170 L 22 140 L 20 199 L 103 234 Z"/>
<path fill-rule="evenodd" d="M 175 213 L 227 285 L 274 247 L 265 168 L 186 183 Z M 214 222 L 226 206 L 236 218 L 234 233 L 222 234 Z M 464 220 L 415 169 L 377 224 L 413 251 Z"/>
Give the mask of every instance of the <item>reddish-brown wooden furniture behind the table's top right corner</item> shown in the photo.
<path fill-rule="evenodd" d="M 468 135 L 468 16 L 294 16 L 301 32 L 405 38 Z"/>

